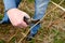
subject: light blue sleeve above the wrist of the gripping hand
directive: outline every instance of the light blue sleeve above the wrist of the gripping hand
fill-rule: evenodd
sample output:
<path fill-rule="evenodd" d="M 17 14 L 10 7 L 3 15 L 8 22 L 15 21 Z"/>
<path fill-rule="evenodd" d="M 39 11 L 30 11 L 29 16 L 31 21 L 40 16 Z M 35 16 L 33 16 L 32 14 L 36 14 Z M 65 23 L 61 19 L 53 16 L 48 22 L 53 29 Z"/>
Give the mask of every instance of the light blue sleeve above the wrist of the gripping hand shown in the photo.
<path fill-rule="evenodd" d="M 3 0 L 5 11 L 16 8 L 15 0 Z"/>

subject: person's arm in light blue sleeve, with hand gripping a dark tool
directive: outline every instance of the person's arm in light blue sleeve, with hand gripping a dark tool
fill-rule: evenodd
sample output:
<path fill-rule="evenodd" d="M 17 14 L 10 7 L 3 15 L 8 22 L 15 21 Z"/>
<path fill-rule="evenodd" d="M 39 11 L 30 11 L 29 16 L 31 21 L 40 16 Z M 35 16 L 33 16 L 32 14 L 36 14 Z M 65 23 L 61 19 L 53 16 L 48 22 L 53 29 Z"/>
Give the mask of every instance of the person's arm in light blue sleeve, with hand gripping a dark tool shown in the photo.
<path fill-rule="evenodd" d="M 20 1 L 20 0 L 18 0 Z M 24 16 L 29 17 L 27 13 L 16 9 L 16 0 L 3 0 L 5 12 L 13 26 L 24 28 L 28 25 L 23 20 Z"/>

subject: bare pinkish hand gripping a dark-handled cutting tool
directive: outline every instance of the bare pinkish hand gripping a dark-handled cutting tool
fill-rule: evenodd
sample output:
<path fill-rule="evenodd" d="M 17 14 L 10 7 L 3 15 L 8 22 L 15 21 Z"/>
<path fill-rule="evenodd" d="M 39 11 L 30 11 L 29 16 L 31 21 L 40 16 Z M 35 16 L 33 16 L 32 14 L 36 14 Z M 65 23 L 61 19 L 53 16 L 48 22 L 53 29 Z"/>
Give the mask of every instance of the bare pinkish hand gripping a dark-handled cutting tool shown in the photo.
<path fill-rule="evenodd" d="M 8 16 L 10 18 L 10 22 L 15 27 L 25 28 L 28 25 L 24 22 L 24 16 L 27 18 L 30 18 L 29 15 L 27 15 L 25 12 L 20 11 L 18 9 L 11 9 L 8 11 Z"/>

